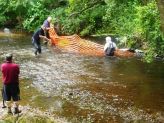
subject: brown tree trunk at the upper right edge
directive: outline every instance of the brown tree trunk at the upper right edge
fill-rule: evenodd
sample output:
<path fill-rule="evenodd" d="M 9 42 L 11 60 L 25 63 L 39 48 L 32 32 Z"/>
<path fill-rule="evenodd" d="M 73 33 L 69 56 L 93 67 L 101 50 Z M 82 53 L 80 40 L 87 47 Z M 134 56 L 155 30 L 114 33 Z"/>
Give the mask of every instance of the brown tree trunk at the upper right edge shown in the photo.
<path fill-rule="evenodd" d="M 164 34 L 164 0 L 156 0 L 161 18 L 161 30 Z"/>

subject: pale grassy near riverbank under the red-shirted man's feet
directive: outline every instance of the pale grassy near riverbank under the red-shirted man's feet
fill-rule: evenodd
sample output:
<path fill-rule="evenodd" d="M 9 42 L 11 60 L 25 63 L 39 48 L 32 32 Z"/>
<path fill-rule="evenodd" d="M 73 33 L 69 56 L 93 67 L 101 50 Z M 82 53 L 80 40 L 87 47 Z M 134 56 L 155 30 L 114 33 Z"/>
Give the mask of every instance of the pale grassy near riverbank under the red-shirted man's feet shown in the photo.
<path fill-rule="evenodd" d="M 2 105 L 2 103 L 0 103 Z M 19 114 L 7 114 L 7 108 L 0 110 L 0 123 L 68 123 L 50 112 L 43 112 L 30 106 L 20 106 Z"/>

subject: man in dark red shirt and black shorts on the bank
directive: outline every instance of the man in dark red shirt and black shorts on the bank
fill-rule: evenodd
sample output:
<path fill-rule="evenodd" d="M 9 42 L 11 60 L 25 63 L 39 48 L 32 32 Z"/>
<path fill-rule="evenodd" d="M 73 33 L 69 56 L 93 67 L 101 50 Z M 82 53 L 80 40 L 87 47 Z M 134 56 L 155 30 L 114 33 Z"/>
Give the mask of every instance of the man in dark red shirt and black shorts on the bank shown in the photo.
<path fill-rule="evenodd" d="M 11 98 L 14 102 L 14 114 L 20 113 L 18 101 L 20 100 L 19 89 L 19 65 L 12 63 L 12 54 L 6 55 L 6 62 L 1 64 L 2 82 L 3 82 L 3 99 L 5 100 L 8 113 L 11 111 Z"/>

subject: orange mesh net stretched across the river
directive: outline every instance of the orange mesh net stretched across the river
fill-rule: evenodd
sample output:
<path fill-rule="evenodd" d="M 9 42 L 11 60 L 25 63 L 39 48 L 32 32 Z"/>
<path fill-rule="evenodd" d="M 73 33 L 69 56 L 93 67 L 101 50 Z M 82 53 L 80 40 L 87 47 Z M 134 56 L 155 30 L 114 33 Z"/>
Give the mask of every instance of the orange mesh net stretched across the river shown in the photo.
<path fill-rule="evenodd" d="M 104 56 L 103 45 L 80 38 L 74 34 L 72 36 L 58 36 L 53 28 L 49 30 L 51 43 L 58 48 L 71 53 L 78 53 L 90 56 Z M 131 57 L 134 53 L 117 49 L 115 56 Z"/>

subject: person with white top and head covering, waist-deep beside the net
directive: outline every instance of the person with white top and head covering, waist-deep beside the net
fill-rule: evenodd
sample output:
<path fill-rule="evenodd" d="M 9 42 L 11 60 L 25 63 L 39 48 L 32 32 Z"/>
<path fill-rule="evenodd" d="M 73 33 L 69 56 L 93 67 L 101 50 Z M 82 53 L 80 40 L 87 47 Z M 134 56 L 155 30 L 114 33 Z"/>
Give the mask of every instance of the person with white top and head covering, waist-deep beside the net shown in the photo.
<path fill-rule="evenodd" d="M 113 56 L 114 51 L 117 49 L 117 46 L 114 42 L 112 42 L 111 37 L 106 37 L 106 43 L 104 46 L 104 53 L 106 56 Z"/>

